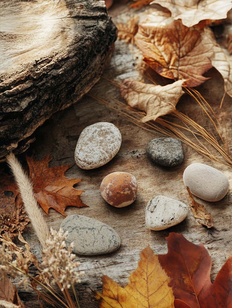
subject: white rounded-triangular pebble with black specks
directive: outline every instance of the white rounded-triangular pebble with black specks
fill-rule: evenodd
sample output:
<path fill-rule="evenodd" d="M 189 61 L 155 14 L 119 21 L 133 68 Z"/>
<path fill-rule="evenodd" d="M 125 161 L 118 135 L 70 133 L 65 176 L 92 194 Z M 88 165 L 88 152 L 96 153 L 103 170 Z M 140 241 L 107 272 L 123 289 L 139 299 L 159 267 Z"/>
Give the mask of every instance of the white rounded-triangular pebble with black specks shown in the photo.
<path fill-rule="evenodd" d="M 185 203 L 165 196 L 156 196 L 147 204 L 145 223 L 151 230 L 164 230 L 179 224 L 187 214 Z"/>

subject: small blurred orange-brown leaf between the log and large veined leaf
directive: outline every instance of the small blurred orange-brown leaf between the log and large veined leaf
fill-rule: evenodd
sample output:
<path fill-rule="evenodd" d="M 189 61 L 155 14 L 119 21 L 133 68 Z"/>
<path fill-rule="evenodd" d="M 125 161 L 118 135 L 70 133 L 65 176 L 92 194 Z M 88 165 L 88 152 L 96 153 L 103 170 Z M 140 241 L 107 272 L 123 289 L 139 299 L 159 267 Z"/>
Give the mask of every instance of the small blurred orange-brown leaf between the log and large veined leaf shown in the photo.
<path fill-rule="evenodd" d="M 127 23 L 116 23 L 118 28 L 118 39 L 126 43 L 134 42 L 134 36 L 138 31 L 139 16 L 134 15 Z"/>

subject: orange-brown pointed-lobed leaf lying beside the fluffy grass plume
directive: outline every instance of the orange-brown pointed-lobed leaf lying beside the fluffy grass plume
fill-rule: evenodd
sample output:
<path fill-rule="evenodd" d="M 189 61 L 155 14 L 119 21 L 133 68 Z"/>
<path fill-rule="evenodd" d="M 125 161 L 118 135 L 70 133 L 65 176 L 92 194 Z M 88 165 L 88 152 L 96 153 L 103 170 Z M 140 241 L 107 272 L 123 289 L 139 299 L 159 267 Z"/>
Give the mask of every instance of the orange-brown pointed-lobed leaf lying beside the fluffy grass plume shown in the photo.
<path fill-rule="evenodd" d="M 47 214 L 49 208 L 66 216 L 64 210 L 68 205 L 88 207 L 80 199 L 83 191 L 73 188 L 73 185 L 81 180 L 65 177 L 65 172 L 73 165 L 49 168 L 48 164 L 52 160 L 50 155 L 39 161 L 35 161 L 33 156 L 26 156 L 26 160 L 33 181 L 35 197 Z"/>

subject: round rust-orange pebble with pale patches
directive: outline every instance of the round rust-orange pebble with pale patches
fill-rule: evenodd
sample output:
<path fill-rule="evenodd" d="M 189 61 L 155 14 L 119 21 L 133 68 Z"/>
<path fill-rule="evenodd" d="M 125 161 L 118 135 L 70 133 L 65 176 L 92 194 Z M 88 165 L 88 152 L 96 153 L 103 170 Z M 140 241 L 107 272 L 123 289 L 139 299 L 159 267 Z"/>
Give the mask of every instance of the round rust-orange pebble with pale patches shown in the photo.
<path fill-rule="evenodd" d="M 138 191 L 136 178 L 127 172 L 112 172 L 101 182 L 100 192 L 110 205 L 122 208 L 135 201 Z"/>

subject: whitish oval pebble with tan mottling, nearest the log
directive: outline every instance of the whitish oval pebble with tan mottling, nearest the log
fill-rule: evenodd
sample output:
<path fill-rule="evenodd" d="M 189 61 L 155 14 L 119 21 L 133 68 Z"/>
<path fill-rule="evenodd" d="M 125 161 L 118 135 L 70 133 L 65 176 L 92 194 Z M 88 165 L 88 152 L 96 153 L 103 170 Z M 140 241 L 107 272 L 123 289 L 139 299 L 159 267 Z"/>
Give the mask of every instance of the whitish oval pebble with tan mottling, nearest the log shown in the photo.
<path fill-rule="evenodd" d="M 75 162 L 82 169 L 94 169 L 108 163 L 120 149 L 122 137 L 112 123 L 99 122 L 81 132 L 75 149 Z"/>

